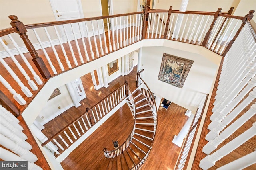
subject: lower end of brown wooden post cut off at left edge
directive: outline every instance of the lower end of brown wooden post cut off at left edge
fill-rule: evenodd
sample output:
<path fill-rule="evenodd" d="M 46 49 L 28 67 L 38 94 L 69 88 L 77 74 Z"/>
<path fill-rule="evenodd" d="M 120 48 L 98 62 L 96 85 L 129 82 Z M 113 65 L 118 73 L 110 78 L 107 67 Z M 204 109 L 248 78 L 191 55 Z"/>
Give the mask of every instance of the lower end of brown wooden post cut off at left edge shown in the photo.
<path fill-rule="evenodd" d="M 20 115 L 20 109 L 18 109 L 18 107 L 16 107 L 14 105 L 14 103 L 12 103 L 12 101 L 10 101 L 9 98 L 7 98 L 7 96 L 5 96 L 5 94 L 0 90 L 0 104 L 5 107 L 8 111 L 10 111 L 14 116 L 18 116 Z"/>

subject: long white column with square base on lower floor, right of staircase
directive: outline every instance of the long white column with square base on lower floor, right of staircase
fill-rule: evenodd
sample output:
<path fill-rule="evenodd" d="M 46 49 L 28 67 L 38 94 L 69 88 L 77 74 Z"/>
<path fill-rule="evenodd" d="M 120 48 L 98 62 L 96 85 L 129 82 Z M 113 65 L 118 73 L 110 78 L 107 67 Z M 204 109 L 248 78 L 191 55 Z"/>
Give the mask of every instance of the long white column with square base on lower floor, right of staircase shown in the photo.
<path fill-rule="evenodd" d="M 183 139 L 186 137 L 188 134 L 190 125 L 194 119 L 194 115 L 191 115 L 188 120 L 186 121 L 185 125 L 182 127 L 180 130 L 179 134 L 174 136 L 174 139 L 172 140 L 172 143 L 176 144 L 178 147 L 181 147 L 183 143 Z"/>

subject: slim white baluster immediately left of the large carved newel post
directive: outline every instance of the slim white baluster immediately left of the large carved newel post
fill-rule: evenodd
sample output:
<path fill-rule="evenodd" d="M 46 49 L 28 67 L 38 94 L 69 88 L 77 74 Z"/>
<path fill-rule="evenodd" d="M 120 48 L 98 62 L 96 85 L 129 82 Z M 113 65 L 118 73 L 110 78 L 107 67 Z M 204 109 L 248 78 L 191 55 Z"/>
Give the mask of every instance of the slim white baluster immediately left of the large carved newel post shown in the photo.
<path fill-rule="evenodd" d="M 10 34 L 8 34 L 8 37 L 10 38 L 10 40 L 12 41 L 12 44 L 14 45 L 14 47 L 17 49 L 17 51 L 20 54 L 20 57 L 22 58 L 22 60 L 24 61 L 24 63 L 26 64 L 26 66 L 28 67 L 28 69 L 30 70 L 30 72 L 33 75 L 34 80 L 36 81 L 36 83 L 38 85 L 43 84 L 42 80 L 40 79 L 40 77 L 36 74 L 36 72 L 34 71 L 34 69 L 32 68 L 31 64 L 28 62 L 28 60 L 26 59 L 26 57 L 24 56 L 24 54 L 21 52 L 18 44 L 14 41 L 14 39 L 12 38 L 12 36 Z"/>

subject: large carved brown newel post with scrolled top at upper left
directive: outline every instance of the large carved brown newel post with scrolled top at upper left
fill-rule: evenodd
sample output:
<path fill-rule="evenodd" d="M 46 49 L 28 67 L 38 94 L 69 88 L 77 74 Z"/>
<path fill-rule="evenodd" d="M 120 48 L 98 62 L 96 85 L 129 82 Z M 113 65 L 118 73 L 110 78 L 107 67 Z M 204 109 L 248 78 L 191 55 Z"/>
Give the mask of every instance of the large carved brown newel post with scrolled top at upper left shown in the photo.
<path fill-rule="evenodd" d="M 16 33 L 20 35 L 22 38 L 26 48 L 28 49 L 30 55 L 33 57 L 32 61 L 36 65 L 36 68 L 39 70 L 40 74 L 42 75 L 43 78 L 50 78 L 50 72 L 47 69 L 44 61 L 42 60 L 41 57 L 38 56 L 38 53 L 36 52 L 34 46 L 28 39 L 28 35 L 26 34 L 27 30 L 22 22 L 18 20 L 17 16 L 10 15 L 9 18 L 12 20 L 11 25 L 12 27 L 16 27 Z"/>

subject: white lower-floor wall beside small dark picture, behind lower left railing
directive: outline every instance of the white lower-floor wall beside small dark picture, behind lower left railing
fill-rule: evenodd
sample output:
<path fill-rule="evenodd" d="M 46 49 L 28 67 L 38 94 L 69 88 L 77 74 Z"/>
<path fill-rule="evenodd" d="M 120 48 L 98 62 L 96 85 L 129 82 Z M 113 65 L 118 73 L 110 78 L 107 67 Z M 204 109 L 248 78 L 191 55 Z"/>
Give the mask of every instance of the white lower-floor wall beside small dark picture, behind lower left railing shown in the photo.
<path fill-rule="evenodd" d="M 54 117 L 57 117 L 70 107 L 74 106 L 74 103 L 66 86 L 60 86 L 59 90 L 61 94 L 48 100 L 36 119 L 42 125 L 54 119 Z M 59 106 L 60 109 L 58 108 Z"/>

